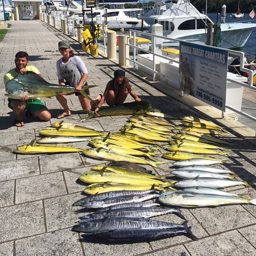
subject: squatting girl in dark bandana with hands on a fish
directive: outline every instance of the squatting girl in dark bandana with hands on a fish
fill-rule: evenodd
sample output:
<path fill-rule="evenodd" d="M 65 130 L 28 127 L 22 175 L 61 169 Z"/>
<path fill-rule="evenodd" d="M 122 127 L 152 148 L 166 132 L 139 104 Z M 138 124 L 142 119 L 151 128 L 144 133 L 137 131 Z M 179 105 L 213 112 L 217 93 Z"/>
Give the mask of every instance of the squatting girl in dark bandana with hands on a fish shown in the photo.
<path fill-rule="evenodd" d="M 133 92 L 128 79 L 125 77 L 125 72 L 123 70 L 115 70 L 114 78 L 108 82 L 104 94 L 95 108 L 95 114 L 97 115 L 97 112 L 105 101 L 111 107 L 123 104 L 128 94 L 130 94 L 136 102 L 141 101 Z"/>

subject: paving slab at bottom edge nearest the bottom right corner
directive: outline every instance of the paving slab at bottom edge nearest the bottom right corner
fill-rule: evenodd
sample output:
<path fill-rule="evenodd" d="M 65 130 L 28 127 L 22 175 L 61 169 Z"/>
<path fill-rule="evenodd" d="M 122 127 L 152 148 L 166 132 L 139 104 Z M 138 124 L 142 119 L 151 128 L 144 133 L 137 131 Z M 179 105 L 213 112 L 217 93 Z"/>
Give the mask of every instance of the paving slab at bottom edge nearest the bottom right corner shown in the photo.
<path fill-rule="evenodd" d="M 186 244 L 191 256 L 219 255 L 219 256 L 255 256 L 256 250 L 238 231 L 233 230 L 220 235 L 204 238 Z"/>

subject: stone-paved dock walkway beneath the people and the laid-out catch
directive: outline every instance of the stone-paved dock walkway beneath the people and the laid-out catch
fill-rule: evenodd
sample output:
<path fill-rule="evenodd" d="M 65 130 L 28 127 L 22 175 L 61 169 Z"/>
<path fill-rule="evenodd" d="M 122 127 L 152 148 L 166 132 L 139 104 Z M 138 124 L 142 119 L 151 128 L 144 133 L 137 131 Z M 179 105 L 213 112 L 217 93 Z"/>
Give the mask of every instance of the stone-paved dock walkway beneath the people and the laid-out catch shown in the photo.
<path fill-rule="evenodd" d="M 82 153 L 17 155 L 13 153 L 18 145 L 29 144 L 39 138 L 39 131 L 59 120 L 61 105 L 55 97 L 41 98 L 52 114 L 52 120 L 40 121 L 26 118 L 24 127 L 15 127 L 15 116 L 8 108 L 3 76 L 15 67 L 15 54 L 26 51 L 30 65 L 35 65 L 45 80 L 58 83 L 56 61 L 61 58 L 58 42 L 70 41 L 71 47 L 82 58 L 89 71 L 88 84 L 97 85 L 90 89 L 91 97 L 103 93 L 114 70 L 120 68 L 102 55 L 91 56 L 82 52 L 80 43 L 64 35 L 48 24 L 38 21 L 8 21 L 12 26 L 0 42 L 0 255 L 1 256 L 256 256 L 256 206 L 250 204 L 220 206 L 216 208 L 182 208 L 192 233 L 198 241 L 186 236 L 177 236 L 158 241 L 129 242 L 86 242 L 71 227 L 82 214 L 75 213 L 79 207 L 71 206 L 74 201 L 85 197 L 85 184 L 78 180 L 80 174 L 94 165 L 105 164 L 88 158 Z M 221 165 L 247 181 L 252 187 L 243 185 L 226 188 L 249 199 L 256 198 L 256 151 L 255 130 L 228 117 L 221 119 L 219 111 L 205 106 L 192 97 L 179 97 L 179 92 L 160 82 L 151 82 L 149 77 L 126 68 L 133 91 L 144 101 L 150 101 L 153 108 L 174 117 L 193 115 L 221 124 L 229 129 L 226 141 L 232 151 L 230 163 Z M 250 91 L 248 100 L 254 101 Z M 118 131 L 128 121 L 127 116 L 97 117 L 82 122 L 76 96 L 67 96 L 71 116 L 62 119 L 67 123 L 79 124 L 102 131 Z M 127 102 L 133 99 L 128 96 Z M 106 106 L 106 104 L 104 105 Z M 61 120 L 61 121 L 62 121 Z M 180 124 L 175 121 L 175 124 Z M 87 142 L 67 144 L 71 147 L 89 148 Z M 222 157 L 220 157 L 222 158 Z M 166 164 L 167 171 L 174 170 L 173 161 L 159 158 Z M 148 167 L 157 175 L 163 171 Z M 182 219 L 173 214 L 155 217 L 181 224 Z"/>

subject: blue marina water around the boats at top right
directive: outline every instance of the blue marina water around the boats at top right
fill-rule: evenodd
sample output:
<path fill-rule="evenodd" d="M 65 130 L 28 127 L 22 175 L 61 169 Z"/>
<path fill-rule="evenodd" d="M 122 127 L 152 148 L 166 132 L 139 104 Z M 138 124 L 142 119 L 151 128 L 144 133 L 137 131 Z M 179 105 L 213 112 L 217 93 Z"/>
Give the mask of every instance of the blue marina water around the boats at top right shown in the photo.
<path fill-rule="evenodd" d="M 208 13 L 207 16 L 212 20 L 213 23 L 217 22 L 217 14 L 216 13 Z M 218 14 L 218 23 L 220 23 L 221 14 Z M 244 14 L 243 18 L 233 18 L 231 13 L 226 14 L 226 23 L 256 23 L 256 18 L 252 19 L 248 13 Z M 256 53 L 255 48 L 256 43 L 256 28 L 253 29 L 251 32 L 250 37 L 248 38 L 246 44 L 241 49 L 242 52 L 244 52 L 247 56 L 254 56 Z"/>

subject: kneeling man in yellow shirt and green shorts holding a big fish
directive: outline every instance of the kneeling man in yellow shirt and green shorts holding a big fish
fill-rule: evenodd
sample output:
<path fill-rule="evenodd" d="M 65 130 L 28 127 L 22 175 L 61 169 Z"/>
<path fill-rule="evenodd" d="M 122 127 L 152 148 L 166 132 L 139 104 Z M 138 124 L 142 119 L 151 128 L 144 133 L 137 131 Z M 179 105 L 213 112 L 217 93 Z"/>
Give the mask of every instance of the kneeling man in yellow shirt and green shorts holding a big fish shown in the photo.
<path fill-rule="evenodd" d="M 29 65 L 29 55 L 26 52 L 16 53 L 14 62 L 16 67 L 8 71 L 3 77 L 5 86 L 9 80 L 14 79 L 19 73 L 26 74 L 27 71 L 33 71 L 42 77 L 35 66 Z M 50 112 L 39 98 L 29 98 L 28 95 L 24 95 L 20 100 L 8 98 L 8 107 L 13 110 L 16 116 L 15 126 L 17 127 L 24 126 L 22 114 L 25 110 L 27 117 L 35 115 L 42 121 L 50 121 L 52 118 Z"/>

